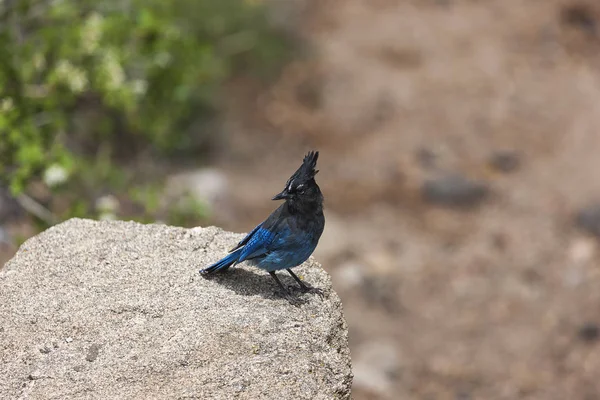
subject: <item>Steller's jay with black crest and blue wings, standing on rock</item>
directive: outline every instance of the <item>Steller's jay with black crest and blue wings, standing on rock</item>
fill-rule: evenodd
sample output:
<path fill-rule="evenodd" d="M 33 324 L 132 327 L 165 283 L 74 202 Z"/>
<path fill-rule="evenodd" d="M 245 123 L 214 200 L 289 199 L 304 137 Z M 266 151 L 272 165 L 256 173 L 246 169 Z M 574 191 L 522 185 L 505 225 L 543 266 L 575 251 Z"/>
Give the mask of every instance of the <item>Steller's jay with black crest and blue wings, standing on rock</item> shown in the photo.
<path fill-rule="evenodd" d="M 315 182 L 319 152 L 309 152 L 298 170 L 288 179 L 285 188 L 273 200 L 285 200 L 269 217 L 230 250 L 229 255 L 200 270 L 201 274 L 225 271 L 249 261 L 273 277 L 292 303 L 297 303 L 283 286 L 275 271 L 285 269 L 298 282 L 303 292 L 320 289 L 306 286 L 291 270 L 312 254 L 325 227 L 323 195 Z"/>

